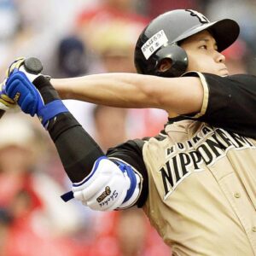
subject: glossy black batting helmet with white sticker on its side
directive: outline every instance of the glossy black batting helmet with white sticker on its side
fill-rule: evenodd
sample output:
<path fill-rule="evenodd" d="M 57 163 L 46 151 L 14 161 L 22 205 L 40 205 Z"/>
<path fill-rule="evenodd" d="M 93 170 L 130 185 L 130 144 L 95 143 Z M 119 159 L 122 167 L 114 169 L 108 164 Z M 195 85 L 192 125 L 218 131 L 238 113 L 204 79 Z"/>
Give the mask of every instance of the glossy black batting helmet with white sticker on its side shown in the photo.
<path fill-rule="evenodd" d="M 137 73 L 161 77 L 181 76 L 188 67 L 188 56 L 178 44 L 203 30 L 211 32 L 219 52 L 233 44 L 240 31 L 235 20 L 210 22 L 207 17 L 191 9 L 166 12 L 152 20 L 137 40 L 134 55 Z M 158 69 L 164 59 L 170 59 L 172 67 L 160 72 Z"/>

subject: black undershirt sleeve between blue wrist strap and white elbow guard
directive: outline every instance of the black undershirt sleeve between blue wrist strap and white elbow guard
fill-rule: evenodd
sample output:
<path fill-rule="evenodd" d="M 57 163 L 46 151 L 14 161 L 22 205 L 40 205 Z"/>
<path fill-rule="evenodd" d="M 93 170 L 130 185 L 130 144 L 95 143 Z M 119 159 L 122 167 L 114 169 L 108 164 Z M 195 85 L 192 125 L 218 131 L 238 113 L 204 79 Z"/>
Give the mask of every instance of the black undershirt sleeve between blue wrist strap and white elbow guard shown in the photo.
<path fill-rule="evenodd" d="M 71 113 L 60 113 L 50 122 L 48 130 L 73 183 L 82 181 L 92 170 L 96 159 L 104 155 Z"/>

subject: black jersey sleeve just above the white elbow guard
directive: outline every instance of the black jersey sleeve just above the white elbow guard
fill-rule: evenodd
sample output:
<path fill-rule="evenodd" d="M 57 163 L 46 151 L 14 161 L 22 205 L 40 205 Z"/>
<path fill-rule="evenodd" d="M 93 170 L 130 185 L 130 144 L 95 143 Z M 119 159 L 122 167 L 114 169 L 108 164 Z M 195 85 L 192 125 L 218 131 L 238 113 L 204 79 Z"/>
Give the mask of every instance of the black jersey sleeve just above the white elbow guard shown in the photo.
<path fill-rule="evenodd" d="M 109 160 L 119 160 L 132 167 L 141 178 L 140 195 L 137 200 L 137 207 L 143 207 L 148 197 L 148 172 L 143 161 L 143 140 L 129 140 L 119 144 L 115 148 L 109 148 L 107 156 Z"/>

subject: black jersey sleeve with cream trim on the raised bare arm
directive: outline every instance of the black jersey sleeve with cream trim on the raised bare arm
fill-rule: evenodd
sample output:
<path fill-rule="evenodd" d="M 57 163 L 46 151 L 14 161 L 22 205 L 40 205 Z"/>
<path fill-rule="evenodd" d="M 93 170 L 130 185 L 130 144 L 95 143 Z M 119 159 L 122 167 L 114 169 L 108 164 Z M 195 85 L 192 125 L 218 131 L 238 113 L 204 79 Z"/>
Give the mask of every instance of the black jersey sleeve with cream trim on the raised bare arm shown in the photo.
<path fill-rule="evenodd" d="M 198 76 L 204 88 L 201 112 L 191 119 L 256 137 L 256 77 L 240 74 L 219 77 L 209 73 L 189 73 Z"/>

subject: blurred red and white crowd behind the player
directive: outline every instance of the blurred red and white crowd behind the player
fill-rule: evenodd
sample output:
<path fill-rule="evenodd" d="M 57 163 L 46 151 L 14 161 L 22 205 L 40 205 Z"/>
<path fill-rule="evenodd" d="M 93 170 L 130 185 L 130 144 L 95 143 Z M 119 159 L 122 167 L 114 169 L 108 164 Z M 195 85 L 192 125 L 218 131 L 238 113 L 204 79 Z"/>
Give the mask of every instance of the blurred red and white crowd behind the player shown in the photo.
<path fill-rule="evenodd" d="M 230 73 L 256 74 L 255 0 L 0 0 L 0 77 L 18 56 L 38 57 L 55 78 L 135 73 L 139 33 L 171 9 L 235 19 L 241 35 L 224 51 L 227 66 Z M 167 117 L 157 109 L 65 104 L 105 151 L 128 138 L 154 136 Z M 6 113 L 0 120 L 0 256 L 170 255 L 142 210 L 92 212 L 64 203 L 60 195 L 70 185 L 38 119 Z"/>

